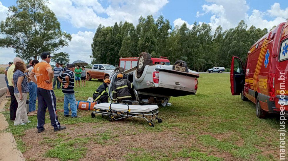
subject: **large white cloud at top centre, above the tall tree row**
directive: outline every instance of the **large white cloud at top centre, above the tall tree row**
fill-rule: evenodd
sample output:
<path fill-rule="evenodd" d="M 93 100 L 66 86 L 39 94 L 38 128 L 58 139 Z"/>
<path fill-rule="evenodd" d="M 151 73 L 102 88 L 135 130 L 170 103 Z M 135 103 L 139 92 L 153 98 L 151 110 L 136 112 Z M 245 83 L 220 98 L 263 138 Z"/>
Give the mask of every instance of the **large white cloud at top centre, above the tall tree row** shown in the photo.
<path fill-rule="evenodd" d="M 48 5 L 60 19 L 68 20 L 76 28 L 96 29 L 101 23 L 113 26 L 117 21 L 128 21 L 136 25 L 140 16 L 157 14 L 168 0 L 111 0 L 103 8 L 97 0 L 50 0 Z M 99 16 L 106 14 L 107 18 Z M 104 16 L 105 17 L 105 16 Z"/>

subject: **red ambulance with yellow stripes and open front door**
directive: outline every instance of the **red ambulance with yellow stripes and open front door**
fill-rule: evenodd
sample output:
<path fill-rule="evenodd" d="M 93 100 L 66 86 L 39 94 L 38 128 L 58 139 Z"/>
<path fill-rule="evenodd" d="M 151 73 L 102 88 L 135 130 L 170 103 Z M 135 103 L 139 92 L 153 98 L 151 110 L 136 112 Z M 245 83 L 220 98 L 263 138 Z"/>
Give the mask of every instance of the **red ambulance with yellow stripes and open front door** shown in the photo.
<path fill-rule="evenodd" d="M 288 19 L 269 31 L 249 50 L 243 66 L 232 57 L 230 84 L 232 95 L 256 104 L 256 115 L 288 114 Z M 286 113 L 286 114 L 285 114 Z"/>

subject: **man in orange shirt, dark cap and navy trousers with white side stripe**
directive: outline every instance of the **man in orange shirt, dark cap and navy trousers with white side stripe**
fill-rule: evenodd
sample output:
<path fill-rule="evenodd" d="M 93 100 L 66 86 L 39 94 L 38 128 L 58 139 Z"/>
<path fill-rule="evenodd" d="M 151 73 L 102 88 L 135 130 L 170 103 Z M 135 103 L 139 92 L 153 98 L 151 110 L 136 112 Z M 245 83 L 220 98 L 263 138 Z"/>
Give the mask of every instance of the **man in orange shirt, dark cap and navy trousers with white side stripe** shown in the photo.
<path fill-rule="evenodd" d="M 41 54 L 42 61 L 34 66 L 29 77 L 33 82 L 37 82 L 37 97 L 38 97 L 38 111 L 37 111 L 37 129 L 38 133 L 43 132 L 45 124 L 45 113 L 48 107 L 51 125 L 54 131 L 66 129 L 65 126 L 60 126 L 56 111 L 56 97 L 52 89 L 53 70 L 50 66 L 51 55 L 49 52 Z M 37 80 L 35 79 L 36 76 Z"/>

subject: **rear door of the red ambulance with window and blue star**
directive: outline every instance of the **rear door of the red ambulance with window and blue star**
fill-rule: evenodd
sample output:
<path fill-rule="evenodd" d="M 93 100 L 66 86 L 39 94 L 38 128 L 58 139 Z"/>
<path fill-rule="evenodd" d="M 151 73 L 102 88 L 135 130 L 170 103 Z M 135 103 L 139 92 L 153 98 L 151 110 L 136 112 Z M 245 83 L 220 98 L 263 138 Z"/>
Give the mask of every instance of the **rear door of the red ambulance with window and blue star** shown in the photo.
<path fill-rule="evenodd" d="M 288 26 L 287 26 L 288 28 Z M 287 32 L 286 32 L 287 34 Z M 284 35 L 284 34 L 283 34 Z M 280 109 L 281 104 L 287 110 L 288 105 L 288 34 L 280 42 L 277 61 L 277 73 L 275 76 L 275 106 Z M 285 112 L 286 113 L 286 112 Z"/>

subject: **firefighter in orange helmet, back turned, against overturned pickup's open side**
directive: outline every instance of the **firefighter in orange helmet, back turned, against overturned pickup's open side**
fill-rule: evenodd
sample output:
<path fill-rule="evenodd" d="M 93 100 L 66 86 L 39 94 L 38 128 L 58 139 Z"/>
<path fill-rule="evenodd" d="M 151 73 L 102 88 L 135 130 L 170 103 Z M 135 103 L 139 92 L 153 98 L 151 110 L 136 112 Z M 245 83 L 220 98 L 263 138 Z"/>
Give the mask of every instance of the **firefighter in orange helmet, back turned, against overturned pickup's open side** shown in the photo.
<path fill-rule="evenodd" d="M 122 100 L 130 100 L 131 94 L 129 89 L 133 87 L 133 84 L 129 80 L 123 79 L 123 74 L 117 74 L 117 81 L 114 83 L 113 93 L 116 93 L 117 102 L 122 102 Z"/>

